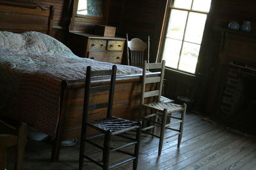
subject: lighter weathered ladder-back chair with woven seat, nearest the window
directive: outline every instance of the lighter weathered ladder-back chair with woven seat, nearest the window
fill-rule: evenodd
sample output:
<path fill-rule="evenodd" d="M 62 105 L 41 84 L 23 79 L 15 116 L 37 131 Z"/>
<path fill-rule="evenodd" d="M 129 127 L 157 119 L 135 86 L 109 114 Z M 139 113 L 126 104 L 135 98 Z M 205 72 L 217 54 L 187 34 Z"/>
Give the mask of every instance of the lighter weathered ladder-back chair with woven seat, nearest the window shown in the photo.
<path fill-rule="evenodd" d="M 162 92 L 163 78 L 164 78 L 164 65 L 165 65 L 164 60 L 162 63 L 147 63 L 147 61 L 144 61 L 143 83 L 142 83 L 142 90 L 141 90 L 140 118 L 141 118 L 141 120 L 147 120 L 148 122 L 151 122 L 153 124 L 148 127 L 144 127 L 143 129 L 141 129 L 141 131 L 159 138 L 158 155 L 161 155 L 164 139 L 179 135 L 178 147 L 180 146 L 180 142 L 182 139 L 184 118 L 186 115 L 186 104 L 179 105 L 179 104 L 173 104 L 170 102 L 161 101 L 161 92 Z M 150 69 L 161 69 L 160 76 L 147 77 L 146 70 L 150 70 Z M 150 83 L 158 83 L 157 89 L 145 92 L 145 85 L 150 84 Z M 154 96 L 157 97 L 156 102 L 153 102 L 153 103 L 145 103 L 144 102 L 145 98 L 154 97 Z M 147 109 L 152 111 L 150 113 L 150 115 L 145 115 L 144 112 Z M 181 112 L 181 117 L 172 116 L 172 113 L 175 113 L 175 112 Z M 168 123 L 168 124 L 166 124 L 167 117 L 170 118 L 170 123 Z M 176 121 L 172 122 L 173 119 L 176 119 Z M 173 125 L 173 124 L 180 124 L 179 129 L 173 129 L 173 128 L 169 127 L 170 125 Z M 161 128 L 160 135 L 156 134 L 157 127 Z M 153 132 L 147 131 L 148 129 L 153 130 Z M 164 137 L 165 129 L 177 131 L 177 133 L 172 136 Z"/>

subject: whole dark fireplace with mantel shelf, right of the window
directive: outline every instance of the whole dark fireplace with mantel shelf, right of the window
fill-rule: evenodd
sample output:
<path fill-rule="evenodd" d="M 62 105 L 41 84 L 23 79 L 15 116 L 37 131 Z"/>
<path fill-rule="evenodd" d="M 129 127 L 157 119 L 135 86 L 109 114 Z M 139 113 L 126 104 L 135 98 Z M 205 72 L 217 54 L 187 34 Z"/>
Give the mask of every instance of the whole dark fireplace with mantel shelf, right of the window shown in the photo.
<path fill-rule="evenodd" d="M 221 32 L 214 78 L 207 98 L 211 120 L 256 134 L 256 36 L 214 27 Z"/>

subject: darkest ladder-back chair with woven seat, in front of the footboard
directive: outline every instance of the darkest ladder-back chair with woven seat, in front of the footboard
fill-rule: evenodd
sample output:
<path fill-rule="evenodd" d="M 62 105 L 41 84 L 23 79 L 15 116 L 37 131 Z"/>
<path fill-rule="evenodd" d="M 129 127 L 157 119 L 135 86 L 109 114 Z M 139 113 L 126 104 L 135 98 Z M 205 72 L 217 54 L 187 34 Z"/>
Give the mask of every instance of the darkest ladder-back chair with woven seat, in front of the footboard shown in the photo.
<path fill-rule="evenodd" d="M 96 87 L 90 87 L 92 76 L 109 76 L 111 75 L 110 85 L 101 85 Z M 88 66 L 86 69 L 86 83 L 85 83 L 85 91 L 84 91 L 84 108 L 83 108 L 83 125 L 81 132 L 81 146 L 80 146 L 80 155 L 79 155 L 79 169 L 83 169 L 83 159 L 88 159 L 91 162 L 97 164 L 103 169 L 110 169 L 116 167 L 120 164 L 133 160 L 133 169 L 136 169 L 138 166 L 138 155 L 139 155 L 139 147 L 140 147 L 140 132 L 141 132 L 141 122 L 132 122 L 130 120 L 125 120 L 123 118 L 113 117 L 113 97 L 115 91 L 115 78 L 116 78 L 116 66 L 113 66 L 112 70 L 107 71 L 91 71 L 91 67 Z M 94 92 L 102 92 L 109 90 L 109 99 L 106 103 L 90 103 L 90 93 Z M 107 117 L 102 118 L 100 120 L 93 120 L 92 122 L 88 121 L 88 111 L 97 110 L 100 108 L 108 108 Z M 102 132 L 101 134 L 97 134 L 91 137 L 86 136 L 86 129 L 90 126 L 97 131 Z M 122 132 L 131 131 L 132 129 L 136 129 L 136 138 L 129 138 L 120 134 Z M 132 140 L 131 143 L 127 143 L 118 148 L 111 148 L 111 136 L 118 135 L 125 139 Z M 104 136 L 104 144 L 103 146 L 94 143 L 91 139 L 97 138 L 99 136 Z M 99 148 L 99 150 L 94 150 L 93 152 L 84 153 L 85 143 L 90 143 L 93 146 Z M 127 146 L 135 145 L 134 153 L 129 153 L 121 150 Z M 98 162 L 97 160 L 92 159 L 89 155 L 93 153 L 97 153 L 103 151 L 102 162 Z M 110 152 L 120 152 L 130 155 L 131 158 L 122 160 L 122 162 L 118 162 L 116 164 L 109 165 L 109 153 Z"/>

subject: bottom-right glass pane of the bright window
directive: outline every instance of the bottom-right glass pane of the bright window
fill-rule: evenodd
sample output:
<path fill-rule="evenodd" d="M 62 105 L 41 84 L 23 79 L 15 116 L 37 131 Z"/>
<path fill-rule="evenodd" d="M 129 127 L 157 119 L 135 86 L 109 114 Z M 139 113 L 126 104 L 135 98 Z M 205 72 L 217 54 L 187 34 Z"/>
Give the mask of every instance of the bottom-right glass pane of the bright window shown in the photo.
<path fill-rule="evenodd" d="M 188 71 L 189 73 L 195 73 L 199 50 L 200 45 L 184 42 L 179 69 Z"/>

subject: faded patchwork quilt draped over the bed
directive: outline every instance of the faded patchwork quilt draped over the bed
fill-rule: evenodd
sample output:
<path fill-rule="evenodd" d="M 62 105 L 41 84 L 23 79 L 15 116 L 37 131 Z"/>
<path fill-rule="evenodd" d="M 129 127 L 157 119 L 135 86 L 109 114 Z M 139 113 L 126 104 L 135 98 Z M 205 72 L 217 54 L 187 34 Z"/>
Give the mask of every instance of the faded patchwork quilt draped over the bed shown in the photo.
<path fill-rule="evenodd" d="M 117 65 L 117 74 L 141 73 Z M 0 115 L 31 124 L 54 137 L 60 110 L 61 80 L 85 77 L 86 67 L 113 64 L 77 57 L 67 46 L 40 32 L 0 31 Z"/>

